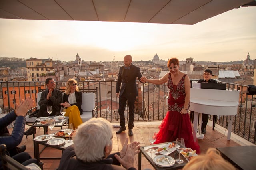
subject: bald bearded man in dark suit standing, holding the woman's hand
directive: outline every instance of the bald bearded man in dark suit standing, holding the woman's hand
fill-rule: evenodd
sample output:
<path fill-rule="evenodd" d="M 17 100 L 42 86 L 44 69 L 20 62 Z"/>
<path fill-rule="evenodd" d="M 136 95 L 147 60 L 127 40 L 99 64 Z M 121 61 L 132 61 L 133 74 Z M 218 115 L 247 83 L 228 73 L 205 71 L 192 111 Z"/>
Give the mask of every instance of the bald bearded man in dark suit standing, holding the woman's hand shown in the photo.
<path fill-rule="evenodd" d="M 120 67 L 118 73 L 118 79 L 116 82 L 116 96 L 119 97 L 119 109 L 118 113 L 120 116 L 120 129 L 116 131 L 116 134 L 120 134 L 126 130 L 125 127 L 125 117 L 124 110 L 126 106 L 126 101 L 128 101 L 129 107 L 129 136 L 133 136 L 132 128 L 134 127 L 134 108 L 136 96 L 138 96 L 138 89 L 136 86 L 136 80 L 140 81 L 142 77 L 140 73 L 140 68 L 132 64 L 132 56 L 126 55 L 124 57 L 124 65 Z M 141 81 L 140 81 L 141 82 Z M 122 86 L 121 86 L 122 83 Z M 144 82 L 141 82 L 144 83 Z M 120 89 L 121 87 L 121 89 Z"/>

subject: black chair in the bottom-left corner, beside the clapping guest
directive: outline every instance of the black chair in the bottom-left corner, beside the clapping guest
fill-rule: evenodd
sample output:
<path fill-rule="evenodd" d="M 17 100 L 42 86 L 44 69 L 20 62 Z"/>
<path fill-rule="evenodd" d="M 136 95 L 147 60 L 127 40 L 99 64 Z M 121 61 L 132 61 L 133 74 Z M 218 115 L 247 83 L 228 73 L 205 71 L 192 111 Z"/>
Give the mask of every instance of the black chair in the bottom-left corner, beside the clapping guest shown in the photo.
<path fill-rule="evenodd" d="M 2 166 L 4 170 L 28 170 L 24 165 L 20 162 L 17 162 L 10 156 L 6 154 L 6 145 L 0 144 L 0 156 L 2 161 Z M 39 167 L 43 170 L 43 162 L 39 162 Z"/>

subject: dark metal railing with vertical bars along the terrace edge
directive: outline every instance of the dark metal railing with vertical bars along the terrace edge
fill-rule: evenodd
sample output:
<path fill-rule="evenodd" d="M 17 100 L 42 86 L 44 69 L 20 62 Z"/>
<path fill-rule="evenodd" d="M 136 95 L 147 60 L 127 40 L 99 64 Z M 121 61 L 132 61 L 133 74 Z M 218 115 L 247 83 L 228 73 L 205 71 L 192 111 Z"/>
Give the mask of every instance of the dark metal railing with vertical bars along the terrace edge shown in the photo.
<path fill-rule="evenodd" d="M 192 80 L 197 82 L 197 80 Z M 222 83 L 222 82 L 220 82 Z M 247 95 L 248 86 L 234 83 L 225 83 L 228 90 L 240 91 L 237 114 L 233 119 L 232 132 L 256 144 L 256 107 L 253 95 Z M 64 91 L 66 82 L 56 81 L 56 89 Z M 119 122 L 118 97 L 116 97 L 116 81 L 78 81 L 81 91 L 98 89 L 98 117 L 103 117 L 110 122 Z M 138 97 L 135 102 L 135 121 L 162 121 L 168 111 L 167 84 L 154 85 L 137 82 Z M 44 82 L 0 82 L 0 107 L 15 109 L 15 103 L 22 99 L 33 97 L 35 106 L 40 89 L 45 89 Z M 126 110 L 126 114 L 128 109 Z M 126 115 L 128 120 L 128 114 Z M 228 125 L 228 116 L 218 116 L 216 123 L 224 128 Z M 210 117 L 212 119 L 212 117 Z"/>

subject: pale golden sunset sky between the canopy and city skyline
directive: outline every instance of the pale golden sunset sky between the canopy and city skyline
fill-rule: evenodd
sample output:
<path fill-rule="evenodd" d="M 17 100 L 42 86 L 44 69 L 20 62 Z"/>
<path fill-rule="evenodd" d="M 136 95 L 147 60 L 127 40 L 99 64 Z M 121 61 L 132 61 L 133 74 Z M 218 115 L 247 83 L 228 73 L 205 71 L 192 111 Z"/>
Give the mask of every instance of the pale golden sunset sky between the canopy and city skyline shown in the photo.
<path fill-rule="evenodd" d="M 0 19 L 0 57 L 134 61 L 256 59 L 256 7 L 241 7 L 194 25 Z"/>

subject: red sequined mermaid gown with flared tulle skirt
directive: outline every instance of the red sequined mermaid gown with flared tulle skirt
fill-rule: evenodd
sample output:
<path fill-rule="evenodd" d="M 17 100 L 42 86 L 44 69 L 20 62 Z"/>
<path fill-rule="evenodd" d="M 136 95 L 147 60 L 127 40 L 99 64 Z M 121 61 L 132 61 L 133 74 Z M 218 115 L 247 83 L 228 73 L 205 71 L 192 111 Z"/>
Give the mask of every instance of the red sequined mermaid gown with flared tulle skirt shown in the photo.
<path fill-rule="evenodd" d="M 189 114 L 181 114 L 180 111 L 184 108 L 185 89 L 184 81 L 186 74 L 182 77 L 178 85 L 173 85 L 171 73 L 168 77 L 168 88 L 170 89 L 168 98 L 168 112 L 164 117 L 159 132 L 154 144 L 176 141 L 177 138 L 185 139 L 185 146 L 196 150 L 200 154 L 200 146 L 196 139 L 196 134 L 190 122 Z M 190 105 L 190 103 L 189 103 Z M 193 135 L 194 133 L 194 135 Z"/>

